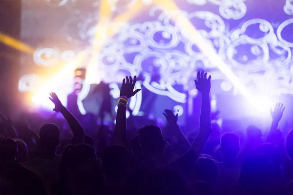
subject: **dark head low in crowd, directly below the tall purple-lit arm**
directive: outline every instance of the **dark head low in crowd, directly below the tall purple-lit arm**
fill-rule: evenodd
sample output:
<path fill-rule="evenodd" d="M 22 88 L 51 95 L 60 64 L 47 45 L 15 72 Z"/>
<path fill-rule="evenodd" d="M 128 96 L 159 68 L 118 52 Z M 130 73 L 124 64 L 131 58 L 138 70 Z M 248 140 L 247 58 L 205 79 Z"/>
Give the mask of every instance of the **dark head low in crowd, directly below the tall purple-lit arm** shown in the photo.
<path fill-rule="evenodd" d="M 214 184 L 217 180 L 218 169 L 211 158 L 201 157 L 195 164 L 195 176 L 197 181 L 206 181 Z"/>

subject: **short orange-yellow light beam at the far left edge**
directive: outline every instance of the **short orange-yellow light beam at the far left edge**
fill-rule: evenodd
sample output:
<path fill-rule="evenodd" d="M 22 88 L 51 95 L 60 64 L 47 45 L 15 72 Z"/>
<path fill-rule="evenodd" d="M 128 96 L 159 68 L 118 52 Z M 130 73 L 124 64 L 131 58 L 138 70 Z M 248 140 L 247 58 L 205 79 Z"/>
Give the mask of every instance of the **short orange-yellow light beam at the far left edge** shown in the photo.
<path fill-rule="evenodd" d="M 14 49 L 29 53 L 29 54 L 33 54 L 35 49 L 32 48 L 31 46 L 22 43 L 21 41 L 14 39 L 8 35 L 4 35 L 2 33 L 0 33 L 0 42 L 13 47 Z"/>

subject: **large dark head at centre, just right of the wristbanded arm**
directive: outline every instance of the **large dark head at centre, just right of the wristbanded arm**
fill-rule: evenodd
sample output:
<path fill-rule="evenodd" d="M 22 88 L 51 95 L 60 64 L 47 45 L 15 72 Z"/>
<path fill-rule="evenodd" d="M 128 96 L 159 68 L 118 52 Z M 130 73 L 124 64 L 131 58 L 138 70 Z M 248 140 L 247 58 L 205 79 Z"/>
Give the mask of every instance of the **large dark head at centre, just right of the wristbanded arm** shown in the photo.
<path fill-rule="evenodd" d="M 167 142 L 158 126 L 146 125 L 139 129 L 139 139 L 144 155 L 164 154 Z"/>

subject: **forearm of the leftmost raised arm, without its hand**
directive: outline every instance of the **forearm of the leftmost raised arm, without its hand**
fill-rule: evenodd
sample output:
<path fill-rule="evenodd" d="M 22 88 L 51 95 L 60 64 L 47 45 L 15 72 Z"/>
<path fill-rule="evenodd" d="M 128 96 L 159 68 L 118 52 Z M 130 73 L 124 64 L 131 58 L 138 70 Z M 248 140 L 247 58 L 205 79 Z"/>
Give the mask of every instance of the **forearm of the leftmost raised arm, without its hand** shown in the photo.
<path fill-rule="evenodd" d="M 82 143 L 84 141 L 84 129 L 79 121 L 74 117 L 65 107 L 63 107 L 61 114 L 67 121 L 72 133 L 73 139 L 76 143 Z"/>

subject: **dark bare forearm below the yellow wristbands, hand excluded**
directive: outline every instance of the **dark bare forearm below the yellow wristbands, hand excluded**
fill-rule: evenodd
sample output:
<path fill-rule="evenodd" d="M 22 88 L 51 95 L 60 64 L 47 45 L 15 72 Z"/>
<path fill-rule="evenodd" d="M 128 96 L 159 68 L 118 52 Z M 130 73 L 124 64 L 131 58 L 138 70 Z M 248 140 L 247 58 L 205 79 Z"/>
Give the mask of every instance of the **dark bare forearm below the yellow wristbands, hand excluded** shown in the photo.
<path fill-rule="evenodd" d="M 126 137 L 126 108 L 124 106 L 118 106 L 114 135 L 118 145 L 123 145 L 130 150 Z"/>

